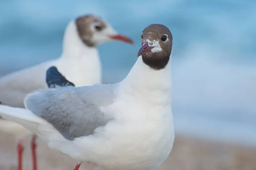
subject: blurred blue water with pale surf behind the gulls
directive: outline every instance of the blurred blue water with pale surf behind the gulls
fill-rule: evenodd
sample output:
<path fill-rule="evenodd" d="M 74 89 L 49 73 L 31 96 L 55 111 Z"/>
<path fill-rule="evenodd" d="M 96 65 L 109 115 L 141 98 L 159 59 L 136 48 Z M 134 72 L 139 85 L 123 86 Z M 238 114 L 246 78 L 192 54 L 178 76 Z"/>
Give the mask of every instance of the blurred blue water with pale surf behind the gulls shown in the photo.
<path fill-rule="evenodd" d="M 143 28 L 161 23 L 173 34 L 175 130 L 256 145 L 255 9 L 255 0 L 3 0 L 0 75 L 58 57 L 67 23 L 93 13 L 136 42 L 99 46 L 104 82 L 117 82 Z"/>

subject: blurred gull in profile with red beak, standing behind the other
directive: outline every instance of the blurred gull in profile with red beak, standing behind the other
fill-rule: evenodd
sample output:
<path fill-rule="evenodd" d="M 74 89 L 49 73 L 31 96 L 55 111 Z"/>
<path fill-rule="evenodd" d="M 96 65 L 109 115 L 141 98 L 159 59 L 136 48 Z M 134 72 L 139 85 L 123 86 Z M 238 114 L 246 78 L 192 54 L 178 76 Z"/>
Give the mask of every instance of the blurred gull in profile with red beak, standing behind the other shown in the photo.
<path fill-rule="evenodd" d="M 134 42 L 118 34 L 110 24 L 93 14 L 77 17 L 68 23 L 63 38 L 63 50 L 58 59 L 49 60 L 41 64 L 25 68 L 0 78 L 0 104 L 24 108 L 25 96 L 38 88 L 47 88 L 45 82 L 46 70 L 54 65 L 76 86 L 88 86 L 102 82 L 101 62 L 97 45 L 111 40 L 120 40 L 133 44 Z M 1 119 L 1 122 L 6 121 Z M 3 130 L 17 136 L 27 136 L 27 130 L 8 123 L 12 129 Z M 22 135 L 21 135 L 22 134 Z M 18 160 L 23 151 L 22 139 L 19 137 Z M 35 136 L 32 138 L 32 154 L 35 155 Z M 33 157 L 33 170 L 36 170 L 36 158 Z M 20 161 L 19 161 L 20 162 Z M 22 165 L 18 163 L 18 167 Z M 20 169 L 21 170 L 21 169 Z"/>

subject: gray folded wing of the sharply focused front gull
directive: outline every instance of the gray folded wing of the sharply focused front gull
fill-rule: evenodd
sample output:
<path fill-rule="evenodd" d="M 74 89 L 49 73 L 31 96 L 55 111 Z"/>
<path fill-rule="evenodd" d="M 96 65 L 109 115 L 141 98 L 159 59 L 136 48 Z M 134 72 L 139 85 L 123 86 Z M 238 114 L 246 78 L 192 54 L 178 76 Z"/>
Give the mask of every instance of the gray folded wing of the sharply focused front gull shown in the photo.
<path fill-rule="evenodd" d="M 29 94 L 25 106 L 52 124 L 66 139 L 93 134 L 113 117 L 99 107 L 114 101 L 114 85 L 41 89 Z"/>

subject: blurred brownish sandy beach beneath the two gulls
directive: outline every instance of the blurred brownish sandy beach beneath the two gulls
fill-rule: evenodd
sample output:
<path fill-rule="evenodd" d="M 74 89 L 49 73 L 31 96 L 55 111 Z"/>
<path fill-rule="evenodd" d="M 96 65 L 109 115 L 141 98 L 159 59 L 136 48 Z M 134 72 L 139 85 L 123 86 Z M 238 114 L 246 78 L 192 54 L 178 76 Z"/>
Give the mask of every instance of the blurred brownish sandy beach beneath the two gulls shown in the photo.
<path fill-rule="evenodd" d="M 0 132 L 0 170 L 16 170 L 15 136 Z M 31 170 L 29 138 L 24 141 L 23 170 Z M 256 147 L 209 142 L 176 135 L 169 158 L 157 170 L 256 170 Z M 39 170 L 73 170 L 76 161 L 38 140 Z M 82 164 L 81 170 L 93 170 Z"/>

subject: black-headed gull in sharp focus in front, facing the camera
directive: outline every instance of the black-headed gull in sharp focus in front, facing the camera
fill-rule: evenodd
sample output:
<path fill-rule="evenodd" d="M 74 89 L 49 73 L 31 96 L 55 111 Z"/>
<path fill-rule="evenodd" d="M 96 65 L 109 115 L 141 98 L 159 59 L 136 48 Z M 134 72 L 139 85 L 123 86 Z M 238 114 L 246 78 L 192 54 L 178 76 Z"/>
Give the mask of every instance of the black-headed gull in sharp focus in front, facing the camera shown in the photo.
<path fill-rule="evenodd" d="M 74 170 L 82 162 L 97 170 L 155 170 L 175 139 L 171 56 L 171 31 L 151 24 L 121 82 L 38 89 L 26 96 L 25 108 L 0 106 L 0 116 L 77 160 Z"/>

